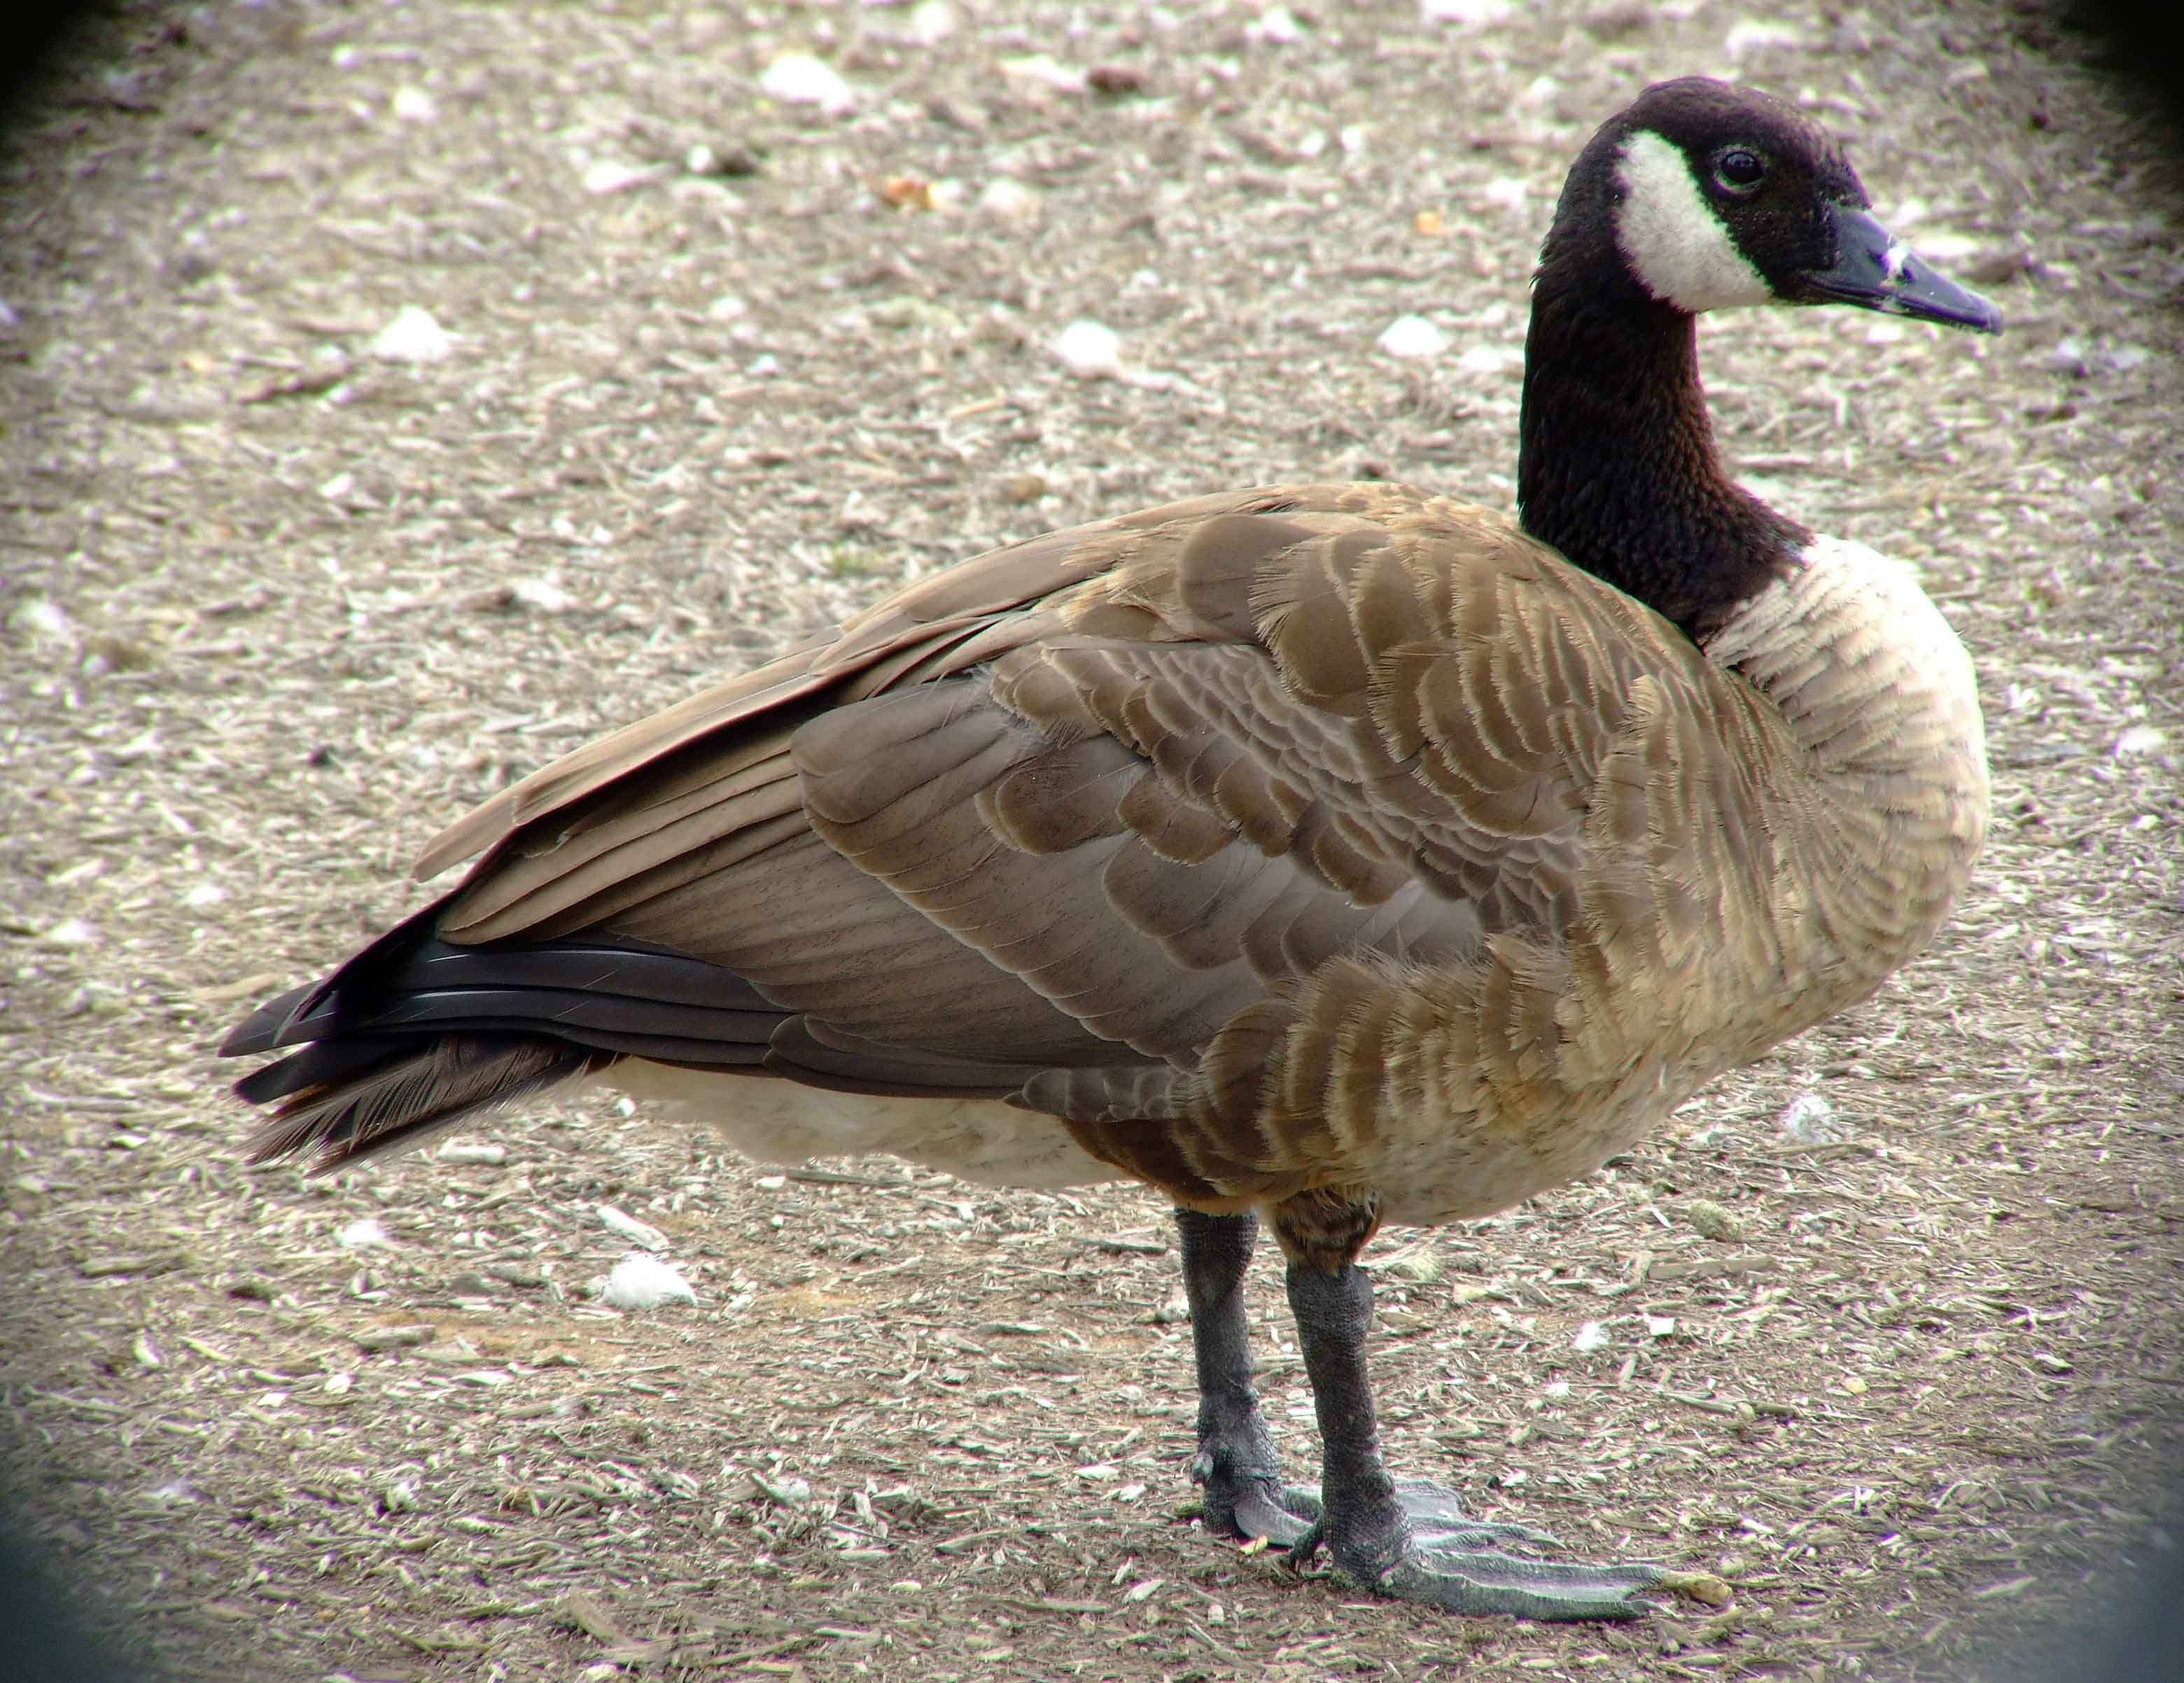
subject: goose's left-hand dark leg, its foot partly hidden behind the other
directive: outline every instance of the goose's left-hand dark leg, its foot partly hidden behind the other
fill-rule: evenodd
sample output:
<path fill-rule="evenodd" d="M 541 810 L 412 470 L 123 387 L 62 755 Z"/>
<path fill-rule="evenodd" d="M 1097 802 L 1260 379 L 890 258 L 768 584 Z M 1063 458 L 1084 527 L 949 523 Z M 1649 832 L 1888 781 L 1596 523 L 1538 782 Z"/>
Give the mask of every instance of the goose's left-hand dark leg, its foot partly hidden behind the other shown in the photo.
<path fill-rule="evenodd" d="M 1282 1548 L 1319 1517 L 1319 1497 L 1282 1484 L 1282 1469 L 1251 1388 L 1243 1275 L 1258 1218 L 1177 1209 L 1184 1242 L 1184 1297 L 1199 1358 L 1199 1454 L 1190 1478 L 1206 1487 L 1206 1528 L 1219 1537 L 1265 1537 Z"/>

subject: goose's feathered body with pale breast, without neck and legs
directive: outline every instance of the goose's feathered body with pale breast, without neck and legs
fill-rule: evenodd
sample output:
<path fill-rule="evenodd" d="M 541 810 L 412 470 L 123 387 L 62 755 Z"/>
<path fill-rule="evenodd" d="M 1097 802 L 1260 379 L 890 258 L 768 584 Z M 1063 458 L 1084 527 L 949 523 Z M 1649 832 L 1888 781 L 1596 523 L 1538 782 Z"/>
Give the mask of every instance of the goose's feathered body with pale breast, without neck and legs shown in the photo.
<path fill-rule="evenodd" d="M 424 915 L 439 941 L 673 950 L 736 1013 L 404 1054 L 262 1139 L 356 1155 L 646 1061 L 762 1157 L 843 1137 L 751 1120 L 773 1074 L 950 1100 L 943 1168 L 1489 1214 L 1872 991 L 1985 810 L 1970 661 L 1859 546 L 1811 546 L 1699 648 L 1472 504 L 1199 498 L 922 581 L 428 849 L 489 849 Z M 491 1026 L 553 1046 L 518 1008 Z"/>

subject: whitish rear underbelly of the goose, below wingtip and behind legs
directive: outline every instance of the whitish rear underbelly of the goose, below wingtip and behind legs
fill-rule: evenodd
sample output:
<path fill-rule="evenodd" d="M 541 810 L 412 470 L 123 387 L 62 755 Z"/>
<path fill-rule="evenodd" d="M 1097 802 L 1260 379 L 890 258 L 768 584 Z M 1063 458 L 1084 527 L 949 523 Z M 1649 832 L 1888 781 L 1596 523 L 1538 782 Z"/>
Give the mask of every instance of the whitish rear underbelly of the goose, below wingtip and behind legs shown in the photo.
<path fill-rule="evenodd" d="M 998 1098 L 871 1098 L 646 1059 L 622 1059 L 594 1081 L 708 1122 L 762 1163 L 882 1153 L 981 1185 L 1040 1190 L 1120 1179 L 1079 1150 L 1055 1118 Z"/>

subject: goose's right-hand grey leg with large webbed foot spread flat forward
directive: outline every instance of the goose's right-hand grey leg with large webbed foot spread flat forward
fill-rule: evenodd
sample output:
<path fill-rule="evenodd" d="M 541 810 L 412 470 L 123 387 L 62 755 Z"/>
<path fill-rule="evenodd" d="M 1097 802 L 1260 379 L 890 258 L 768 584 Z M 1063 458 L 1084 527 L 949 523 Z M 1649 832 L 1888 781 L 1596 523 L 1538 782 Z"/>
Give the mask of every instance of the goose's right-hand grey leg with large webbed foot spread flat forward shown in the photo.
<path fill-rule="evenodd" d="M 1721 1604 L 1728 1585 L 1704 1572 L 1658 1565 L 1566 1565 L 1507 1554 L 1503 1541 L 1551 1541 L 1522 1526 L 1483 1526 L 1457 1497 L 1424 1480 L 1393 1480 L 1380 1463 L 1365 1329 L 1372 1281 L 1354 1262 L 1337 1270 L 1289 1264 L 1304 1371 L 1313 1382 L 1326 1447 L 1319 1524 L 1291 1550 L 1326 1548 L 1358 1585 L 1450 1613 L 1514 1613 L 1533 1620 L 1629 1620 L 1649 1611 L 1645 1591 L 1677 1591 Z"/>

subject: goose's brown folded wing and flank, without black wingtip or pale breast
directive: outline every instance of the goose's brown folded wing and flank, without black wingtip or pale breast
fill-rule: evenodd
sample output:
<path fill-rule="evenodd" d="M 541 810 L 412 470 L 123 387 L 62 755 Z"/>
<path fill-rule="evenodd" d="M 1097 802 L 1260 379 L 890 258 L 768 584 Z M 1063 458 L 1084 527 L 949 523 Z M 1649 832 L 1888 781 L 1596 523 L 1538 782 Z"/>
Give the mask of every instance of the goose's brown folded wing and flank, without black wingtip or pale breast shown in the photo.
<path fill-rule="evenodd" d="M 548 766 L 419 869 L 491 849 L 452 941 L 708 956 L 806 1013 L 815 1076 L 1044 1070 L 1022 1102 L 1094 1155 L 1234 1203 L 1706 1033 L 1671 995 L 1769 869 L 1743 816 L 1769 731 L 1509 520 L 1291 487 L 924 581 Z"/>

